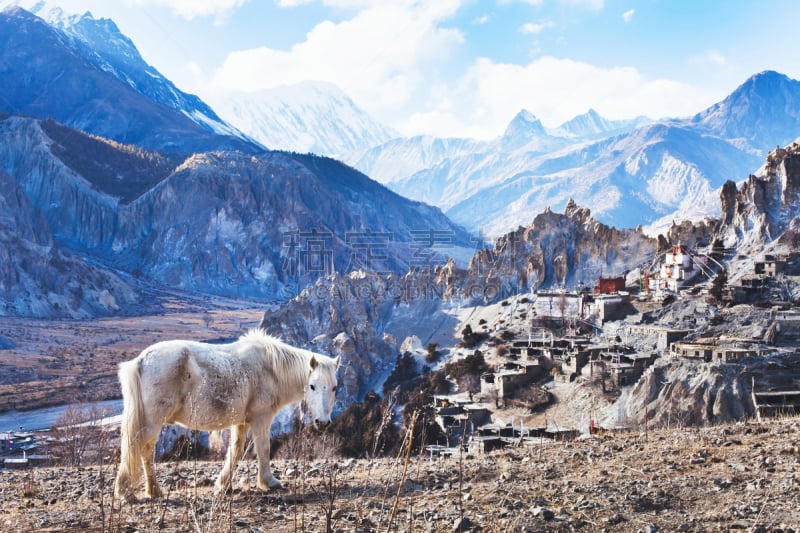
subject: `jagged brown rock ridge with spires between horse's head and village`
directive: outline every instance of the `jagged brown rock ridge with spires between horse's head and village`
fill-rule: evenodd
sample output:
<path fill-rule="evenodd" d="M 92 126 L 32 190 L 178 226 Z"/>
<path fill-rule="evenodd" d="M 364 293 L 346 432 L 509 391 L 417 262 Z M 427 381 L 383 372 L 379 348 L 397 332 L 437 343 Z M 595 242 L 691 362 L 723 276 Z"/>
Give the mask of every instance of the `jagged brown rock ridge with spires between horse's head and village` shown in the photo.
<path fill-rule="evenodd" d="M 297 298 L 265 312 L 261 327 L 288 342 L 341 355 L 343 392 L 337 398 L 346 406 L 380 390 L 407 336 L 426 338 L 436 329 L 455 329 L 448 315 L 454 306 L 573 287 L 580 280 L 589 284 L 601 272 L 621 275 L 649 263 L 656 248 L 656 240 L 609 228 L 570 203 L 565 213 L 543 213 L 531 226 L 498 239 L 467 268 L 451 260 L 404 276 L 358 271 L 319 279 Z"/>

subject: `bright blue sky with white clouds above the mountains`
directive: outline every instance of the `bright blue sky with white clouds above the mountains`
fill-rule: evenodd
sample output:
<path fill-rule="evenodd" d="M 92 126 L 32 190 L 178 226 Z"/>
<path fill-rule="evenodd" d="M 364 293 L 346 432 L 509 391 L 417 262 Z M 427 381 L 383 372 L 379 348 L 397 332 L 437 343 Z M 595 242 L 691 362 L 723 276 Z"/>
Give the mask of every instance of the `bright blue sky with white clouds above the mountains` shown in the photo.
<path fill-rule="evenodd" d="M 48 3 L 112 18 L 148 63 L 212 105 L 323 80 L 404 135 L 492 138 L 523 108 L 551 127 L 589 108 L 686 116 L 757 72 L 800 78 L 793 0 Z"/>

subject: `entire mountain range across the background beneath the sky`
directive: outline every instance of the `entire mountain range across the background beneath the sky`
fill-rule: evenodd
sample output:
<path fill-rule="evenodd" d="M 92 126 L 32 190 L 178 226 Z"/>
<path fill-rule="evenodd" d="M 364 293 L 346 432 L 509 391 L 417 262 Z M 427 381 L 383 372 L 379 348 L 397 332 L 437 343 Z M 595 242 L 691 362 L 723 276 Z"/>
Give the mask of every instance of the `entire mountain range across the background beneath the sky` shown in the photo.
<path fill-rule="evenodd" d="M 800 131 L 800 83 L 763 72 L 690 118 L 611 121 L 590 110 L 546 128 L 523 110 L 493 141 L 394 138 L 344 158 L 391 192 L 333 159 L 266 150 L 148 66 L 112 21 L 38 13 L 45 19 L 19 7 L 0 16 L 0 168 L 26 197 L 13 203 L 25 215 L 6 227 L 44 220 L 47 246 L 93 269 L 186 290 L 281 299 L 330 270 L 402 273 L 468 257 L 466 231 L 404 196 L 490 237 L 562 203 L 590 205 L 618 227 L 719 213 L 722 185 Z M 294 111 L 278 93 L 268 118 L 291 129 L 277 115 L 294 113 L 307 128 L 316 113 L 314 145 L 392 135 L 332 86 L 305 85 L 292 105 L 318 105 Z M 342 109 L 357 120 L 338 117 Z M 300 268 L 309 258 L 322 262 Z M 115 301 L 132 301 L 130 283 L 120 281 Z"/>

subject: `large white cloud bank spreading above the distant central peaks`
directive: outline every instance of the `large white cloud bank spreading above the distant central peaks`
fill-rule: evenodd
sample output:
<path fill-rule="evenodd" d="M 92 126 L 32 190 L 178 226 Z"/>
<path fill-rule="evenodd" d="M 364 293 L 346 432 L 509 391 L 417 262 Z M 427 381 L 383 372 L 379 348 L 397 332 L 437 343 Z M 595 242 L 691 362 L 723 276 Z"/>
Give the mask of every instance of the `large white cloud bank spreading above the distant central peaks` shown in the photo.
<path fill-rule="evenodd" d="M 446 69 L 440 67 L 464 43 L 460 30 L 447 27 L 464 0 L 317 1 L 370 6 L 341 22 L 317 24 L 290 48 L 230 53 L 201 96 L 213 103 L 211 95 L 220 89 L 255 91 L 321 80 L 334 83 L 404 135 L 481 139 L 500 135 L 523 108 L 557 126 L 590 107 L 611 119 L 685 116 L 720 96 L 649 78 L 633 67 L 599 67 L 551 56 L 527 64 L 478 58 L 461 74 L 444 78 Z M 583 5 L 602 7 L 602 2 L 584 0 Z M 553 26 L 540 21 L 520 31 Z"/>

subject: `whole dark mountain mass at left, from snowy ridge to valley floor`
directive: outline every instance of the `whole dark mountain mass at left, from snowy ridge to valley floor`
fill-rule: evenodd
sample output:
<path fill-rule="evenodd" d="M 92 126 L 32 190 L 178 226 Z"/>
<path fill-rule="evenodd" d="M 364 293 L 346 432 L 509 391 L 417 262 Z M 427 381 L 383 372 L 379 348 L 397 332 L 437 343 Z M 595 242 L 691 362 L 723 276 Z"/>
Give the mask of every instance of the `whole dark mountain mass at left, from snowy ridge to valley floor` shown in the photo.
<path fill-rule="evenodd" d="M 471 246 L 351 167 L 264 149 L 112 22 L 53 20 L 0 13 L 0 313 L 125 312 L 142 283 L 280 301 L 332 271 L 406 272 Z"/>

